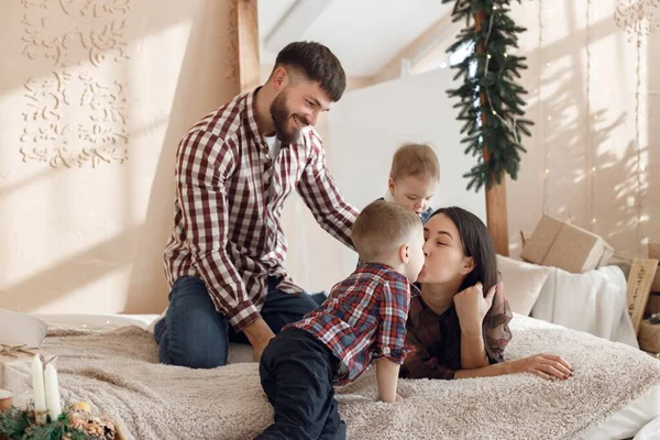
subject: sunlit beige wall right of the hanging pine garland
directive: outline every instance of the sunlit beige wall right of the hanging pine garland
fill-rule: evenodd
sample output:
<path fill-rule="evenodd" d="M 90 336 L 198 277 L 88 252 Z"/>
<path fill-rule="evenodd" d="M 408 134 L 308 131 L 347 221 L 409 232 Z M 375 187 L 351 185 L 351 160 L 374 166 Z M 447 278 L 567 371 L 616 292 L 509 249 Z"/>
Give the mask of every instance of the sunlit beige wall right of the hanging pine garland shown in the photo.
<path fill-rule="evenodd" d="M 512 253 L 546 212 L 646 255 L 660 241 L 660 1 L 513 4 L 536 125 L 507 186 Z"/>

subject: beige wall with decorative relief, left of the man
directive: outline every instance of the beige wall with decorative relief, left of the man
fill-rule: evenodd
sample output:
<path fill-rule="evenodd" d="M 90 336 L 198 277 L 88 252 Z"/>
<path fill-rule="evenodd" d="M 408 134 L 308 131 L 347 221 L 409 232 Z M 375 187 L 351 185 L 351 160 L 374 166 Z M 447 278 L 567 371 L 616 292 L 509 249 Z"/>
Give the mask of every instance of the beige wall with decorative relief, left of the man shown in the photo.
<path fill-rule="evenodd" d="M 3 4 L 0 307 L 163 309 L 178 140 L 238 92 L 229 3 Z"/>

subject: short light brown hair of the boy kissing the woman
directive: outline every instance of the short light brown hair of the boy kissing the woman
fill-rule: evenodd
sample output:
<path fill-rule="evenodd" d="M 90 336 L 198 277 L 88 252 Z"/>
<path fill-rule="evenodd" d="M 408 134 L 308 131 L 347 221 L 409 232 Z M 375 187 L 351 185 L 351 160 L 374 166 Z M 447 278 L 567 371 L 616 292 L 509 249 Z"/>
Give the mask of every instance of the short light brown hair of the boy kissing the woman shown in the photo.
<path fill-rule="evenodd" d="M 352 239 L 360 261 L 387 258 L 416 229 L 421 220 L 409 209 L 385 200 L 369 204 L 353 223 Z"/>

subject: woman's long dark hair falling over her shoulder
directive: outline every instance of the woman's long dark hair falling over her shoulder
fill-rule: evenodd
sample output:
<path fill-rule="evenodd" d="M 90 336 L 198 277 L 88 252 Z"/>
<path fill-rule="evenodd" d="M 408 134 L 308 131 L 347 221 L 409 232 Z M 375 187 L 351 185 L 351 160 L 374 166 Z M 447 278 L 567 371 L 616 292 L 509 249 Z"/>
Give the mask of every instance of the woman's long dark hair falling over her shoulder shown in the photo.
<path fill-rule="evenodd" d="M 465 256 L 474 258 L 474 270 L 463 279 L 459 292 L 481 282 L 485 295 L 492 286 L 497 284 L 497 260 L 491 233 L 479 217 L 463 208 L 440 208 L 431 215 L 429 220 L 440 213 L 449 217 L 459 230 Z"/>

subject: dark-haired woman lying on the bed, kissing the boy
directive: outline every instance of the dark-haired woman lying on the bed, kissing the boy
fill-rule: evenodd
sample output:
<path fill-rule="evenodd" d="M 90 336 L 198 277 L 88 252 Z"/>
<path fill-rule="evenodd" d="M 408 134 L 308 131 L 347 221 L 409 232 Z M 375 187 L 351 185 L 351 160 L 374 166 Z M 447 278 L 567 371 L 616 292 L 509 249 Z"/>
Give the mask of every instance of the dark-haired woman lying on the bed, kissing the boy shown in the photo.
<path fill-rule="evenodd" d="M 497 284 L 493 240 L 476 216 L 455 207 L 438 209 L 424 233 L 421 297 L 410 302 L 406 337 L 416 350 L 406 358 L 402 377 L 451 380 L 529 372 L 565 380 L 572 374 L 571 366 L 554 354 L 504 361 L 513 315 L 503 284 Z"/>

